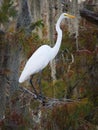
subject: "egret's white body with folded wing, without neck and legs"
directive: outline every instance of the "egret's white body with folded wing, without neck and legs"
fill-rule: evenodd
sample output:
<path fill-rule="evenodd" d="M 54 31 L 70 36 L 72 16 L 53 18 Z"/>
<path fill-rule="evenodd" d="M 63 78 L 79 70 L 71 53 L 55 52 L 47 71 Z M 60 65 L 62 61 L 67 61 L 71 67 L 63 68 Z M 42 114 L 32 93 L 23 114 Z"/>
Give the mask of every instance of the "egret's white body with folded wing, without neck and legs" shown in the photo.
<path fill-rule="evenodd" d="M 49 63 L 50 47 L 41 46 L 27 61 L 24 70 L 19 78 L 19 82 L 24 82 L 30 75 L 41 71 Z"/>

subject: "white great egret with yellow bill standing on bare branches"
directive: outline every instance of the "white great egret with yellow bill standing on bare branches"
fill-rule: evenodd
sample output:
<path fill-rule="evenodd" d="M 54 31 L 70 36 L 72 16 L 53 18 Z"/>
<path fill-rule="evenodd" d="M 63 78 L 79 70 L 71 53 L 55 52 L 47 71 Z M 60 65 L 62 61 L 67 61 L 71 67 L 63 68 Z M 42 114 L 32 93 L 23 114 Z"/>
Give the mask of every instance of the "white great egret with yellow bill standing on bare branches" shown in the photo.
<path fill-rule="evenodd" d="M 27 61 L 24 70 L 22 71 L 22 74 L 19 78 L 19 83 L 24 82 L 25 80 L 29 79 L 31 75 L 34 75 L 35 73 L 43 70 L 48 65 L 48 63 L 55 58 L 62 41 L 62 30 L 60 29 L 60 23 L 64 18 L 75 18 L 75 16 L 69 15 L 67 13 L 62 13 L 60 15 L 56 24 L 58 37 L 55 46 L 50 47 L 48 45 L 42 45 L 34 52 L 34 54 Z M 31 85 L 33 86 L 32 82 Z M 37 91 L 34 87 L 33 89 L 37 94 Z"/>

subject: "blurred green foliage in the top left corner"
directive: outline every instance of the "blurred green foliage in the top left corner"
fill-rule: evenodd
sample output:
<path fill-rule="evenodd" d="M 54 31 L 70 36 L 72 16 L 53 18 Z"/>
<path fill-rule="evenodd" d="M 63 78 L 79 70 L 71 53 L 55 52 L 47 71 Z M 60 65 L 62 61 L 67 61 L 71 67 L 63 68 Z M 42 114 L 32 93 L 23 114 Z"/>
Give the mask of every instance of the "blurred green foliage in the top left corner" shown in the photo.
<path fill-rule="evenodd" d="M 9 22 L 10 17 L 15 17 L 17 11 L 13 6 L 12 0 L 3 0 L 2 6 L 0 8 L 0 23 L 5 24 Z"/>

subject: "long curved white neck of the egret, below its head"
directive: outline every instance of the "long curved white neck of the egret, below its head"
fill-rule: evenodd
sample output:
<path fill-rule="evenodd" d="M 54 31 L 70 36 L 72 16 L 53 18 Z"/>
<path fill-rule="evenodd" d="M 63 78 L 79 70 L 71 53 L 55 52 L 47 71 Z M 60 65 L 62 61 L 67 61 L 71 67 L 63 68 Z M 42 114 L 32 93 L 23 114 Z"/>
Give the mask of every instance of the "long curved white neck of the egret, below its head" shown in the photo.
<path fill-rule="evenodd" d="M 57 24 L 56 24 L 56 31 L 57 31 L 57 41 L 56 41 L 56 44 L 55 46 L 52 48 L 53 50 L 53 57 L 52 59 L 57 55 L 58 51 L 59 51 L 59 48 L 60 48 L 60 45 L 61 45 L 61 41 L 62 41 L 62 30 L 60 28 L 60 23 L 62 21 L 62 18 L 60 17 L 57 21 Z"/>

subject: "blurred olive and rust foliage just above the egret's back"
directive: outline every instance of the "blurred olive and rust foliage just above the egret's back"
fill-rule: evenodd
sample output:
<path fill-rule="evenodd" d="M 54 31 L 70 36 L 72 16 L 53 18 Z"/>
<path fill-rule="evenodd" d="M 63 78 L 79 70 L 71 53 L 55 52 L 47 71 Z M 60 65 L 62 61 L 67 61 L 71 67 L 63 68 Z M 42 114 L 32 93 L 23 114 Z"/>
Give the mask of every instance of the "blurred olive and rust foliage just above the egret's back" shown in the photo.
<path fill-rule="evenodd" d="M 19 44 L 22 45 L 23 54 L 25 54 L 26 57 L 30 57 L 31 54 L 42 44 L 42 39 L 36 32 L 32 35 L 26 36 L 25 31 L 21 30 L 16 34 L 18 36 Z"/>

